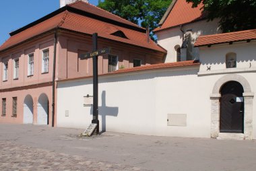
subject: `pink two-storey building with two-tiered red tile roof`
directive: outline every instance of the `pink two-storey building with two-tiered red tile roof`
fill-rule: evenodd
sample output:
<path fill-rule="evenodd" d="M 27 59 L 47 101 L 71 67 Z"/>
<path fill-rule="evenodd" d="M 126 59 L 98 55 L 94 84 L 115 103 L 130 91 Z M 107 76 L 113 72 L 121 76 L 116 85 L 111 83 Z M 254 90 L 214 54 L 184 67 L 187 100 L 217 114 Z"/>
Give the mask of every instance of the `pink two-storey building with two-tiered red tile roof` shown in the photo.
<path fill-rule="evenodd" d="M 57 81 L 92 76 L 92 59 L 81 54 L 98 48 L 98 74 L 163 63 L 166 50 L 146 29 L 90 3 L 76 1 L 10 33 L 0 46 L 0 123 L 55 125 Z"/>

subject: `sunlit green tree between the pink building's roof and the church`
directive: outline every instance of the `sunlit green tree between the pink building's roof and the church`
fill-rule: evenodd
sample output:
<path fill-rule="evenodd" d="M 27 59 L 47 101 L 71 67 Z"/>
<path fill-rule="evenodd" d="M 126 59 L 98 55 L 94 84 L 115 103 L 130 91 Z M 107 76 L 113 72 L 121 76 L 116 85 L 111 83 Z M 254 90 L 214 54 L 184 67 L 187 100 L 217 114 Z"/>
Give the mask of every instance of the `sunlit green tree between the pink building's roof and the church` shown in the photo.
<path fill-rule="evenodd" d="M 162 16 L 172 0 L 104 0 L 98 7 L 110 11 L 121 18 L 139 24 L 150 31 L 158 27 Z M 152 36 L 152 32 L 151 32 Z"/>

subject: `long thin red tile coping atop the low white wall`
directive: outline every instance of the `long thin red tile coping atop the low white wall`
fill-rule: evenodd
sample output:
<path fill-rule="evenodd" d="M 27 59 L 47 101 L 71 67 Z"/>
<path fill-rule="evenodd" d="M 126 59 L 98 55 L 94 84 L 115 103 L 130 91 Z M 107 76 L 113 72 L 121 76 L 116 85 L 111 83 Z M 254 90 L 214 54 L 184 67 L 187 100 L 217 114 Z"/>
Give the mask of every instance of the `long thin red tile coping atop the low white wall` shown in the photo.
<path fill-rule="evenodd" d="M 111 72 L 111 73 L 103 73 L 100 75 L 115 75 L 119 73 L 131 73 L 136 71 L 148 71 L 148 70 L 154 70 L 154 69 L 166 69 L 166 68 L 174 68 L 174 67 L 189 67 L 189 66 L 196 66 L 200 65 L 199 61 L 181 61 L 181 62 L 174 62 L 174 63 L 160 63 L 160 64 L 154 64 L 154 65 L 146 65 L 142 67 L 132 67 L 129 69 L 119 69 L 117 71 Z M 73 79 L 83 79 L 87 77 L 92 76 L 86 76 L 86 77 L 75 77 L 68 80 Z M 59 79 L 58 81 L 66 81 L 67 79 Z"/>

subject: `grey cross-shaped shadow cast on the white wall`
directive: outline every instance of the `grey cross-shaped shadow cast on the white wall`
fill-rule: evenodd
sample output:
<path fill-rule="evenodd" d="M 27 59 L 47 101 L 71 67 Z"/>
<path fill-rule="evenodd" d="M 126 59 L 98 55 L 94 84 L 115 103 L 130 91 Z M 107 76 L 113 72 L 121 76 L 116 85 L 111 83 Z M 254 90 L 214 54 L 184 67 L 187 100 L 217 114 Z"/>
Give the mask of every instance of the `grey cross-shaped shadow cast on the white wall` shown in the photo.
<path fill-rule="evenodd" d="M 101 106 L 98 106 L 98 114 L 102 116 L 102 131 L 106 131 L 106 116 L 116 116 L 119 113 L 118 107 L 106 106 L 106 91 L 102 91 L 101 94 Z M 90 114 L 92 114 L 92 107 L 90 109 Z"/>

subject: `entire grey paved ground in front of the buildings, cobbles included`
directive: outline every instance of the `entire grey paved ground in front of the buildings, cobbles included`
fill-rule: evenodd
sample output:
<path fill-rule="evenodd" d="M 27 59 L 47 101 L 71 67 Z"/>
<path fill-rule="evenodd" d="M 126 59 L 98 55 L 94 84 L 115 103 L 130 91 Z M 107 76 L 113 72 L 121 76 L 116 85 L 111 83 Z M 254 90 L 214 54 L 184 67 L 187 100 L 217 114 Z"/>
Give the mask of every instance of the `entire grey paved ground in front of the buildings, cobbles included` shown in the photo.
<path fill-rule="evenodd" d="M 0 171 L 255 171 L 256 141 L 156 137 L 0 123 Z"/>

